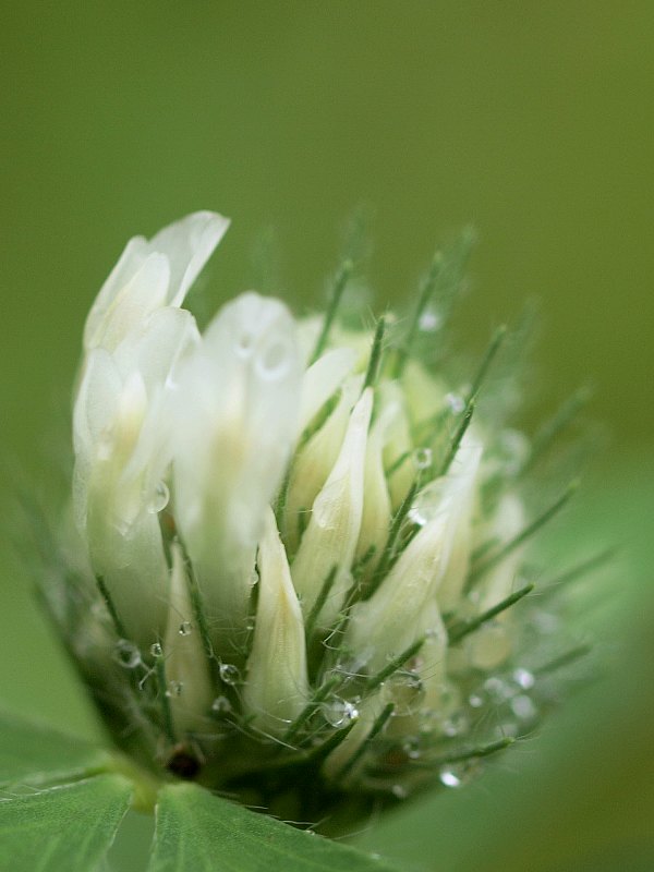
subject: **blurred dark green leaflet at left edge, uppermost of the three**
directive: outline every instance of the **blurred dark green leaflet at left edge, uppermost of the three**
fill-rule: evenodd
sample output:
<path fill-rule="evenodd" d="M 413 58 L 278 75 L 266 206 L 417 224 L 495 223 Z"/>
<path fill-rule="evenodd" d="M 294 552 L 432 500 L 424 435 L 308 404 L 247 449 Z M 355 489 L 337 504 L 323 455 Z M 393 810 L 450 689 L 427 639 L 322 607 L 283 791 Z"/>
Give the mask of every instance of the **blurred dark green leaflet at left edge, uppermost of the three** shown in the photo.
<path fill-rule="evenodd" d="M 48 726 L 0 712 L 0 787 L 45 787 L 107 768 L 109 754 Z"/>

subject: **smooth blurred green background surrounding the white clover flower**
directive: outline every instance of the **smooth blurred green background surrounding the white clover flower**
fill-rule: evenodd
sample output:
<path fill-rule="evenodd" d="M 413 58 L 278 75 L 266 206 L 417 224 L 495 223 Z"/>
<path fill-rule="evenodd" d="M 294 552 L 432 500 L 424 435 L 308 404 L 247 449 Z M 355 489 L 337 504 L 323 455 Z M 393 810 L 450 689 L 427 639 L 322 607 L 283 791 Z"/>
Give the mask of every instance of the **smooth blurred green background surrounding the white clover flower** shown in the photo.
<path fill-rule="evenodd" d="M 610 443 L 559 535 L 632 543 L 616 586 L 635 605 L 605 628 L 631 646 L 510 772 L 363 836 L 426 869 L 654 865 L 653 34 L 651 2 L 31 0 L 2 14 L 8 480 L 55 453 L 85 313 L 126 239 L 198 208 L 233 219 L 208 272 L 219 298 L 252 284 L 253 246 L 272 228 L 299 305 L 320 301 L 361 203 L 376 213 L 379 305 L 401 303 L 435 245 L 472 222 L 468 346 L 535 295 L 531 420 L 595 385 L 591 415 Z M 0 699 L 93 734 L 4 517 Z"/>

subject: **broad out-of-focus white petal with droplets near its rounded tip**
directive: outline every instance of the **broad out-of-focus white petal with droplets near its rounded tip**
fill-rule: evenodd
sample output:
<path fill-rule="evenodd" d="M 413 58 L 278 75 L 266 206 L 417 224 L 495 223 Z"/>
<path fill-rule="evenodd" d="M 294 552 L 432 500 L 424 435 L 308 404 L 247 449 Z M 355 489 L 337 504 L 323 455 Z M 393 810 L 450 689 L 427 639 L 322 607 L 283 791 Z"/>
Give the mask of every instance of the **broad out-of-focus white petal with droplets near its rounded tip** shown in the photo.
<path fill-rule="evenodd" d="M 175 508 L 218 625 L 242 627 L 266 507 L 300 403 L 294 324 L 277 300 L 227 305 L 180 365 L 173 409 Z"/>

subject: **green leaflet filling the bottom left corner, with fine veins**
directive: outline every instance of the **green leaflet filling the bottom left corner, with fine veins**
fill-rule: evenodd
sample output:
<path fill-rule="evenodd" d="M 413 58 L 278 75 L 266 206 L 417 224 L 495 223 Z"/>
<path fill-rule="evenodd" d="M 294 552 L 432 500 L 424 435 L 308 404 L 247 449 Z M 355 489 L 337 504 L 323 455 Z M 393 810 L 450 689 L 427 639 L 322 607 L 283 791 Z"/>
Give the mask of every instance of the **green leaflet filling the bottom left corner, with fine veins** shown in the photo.
<path fill-rule="evenodd" d="M 99 775 L 0 802 L 0 869 L 93 872 L 128 811 L 132 785 Z"/>

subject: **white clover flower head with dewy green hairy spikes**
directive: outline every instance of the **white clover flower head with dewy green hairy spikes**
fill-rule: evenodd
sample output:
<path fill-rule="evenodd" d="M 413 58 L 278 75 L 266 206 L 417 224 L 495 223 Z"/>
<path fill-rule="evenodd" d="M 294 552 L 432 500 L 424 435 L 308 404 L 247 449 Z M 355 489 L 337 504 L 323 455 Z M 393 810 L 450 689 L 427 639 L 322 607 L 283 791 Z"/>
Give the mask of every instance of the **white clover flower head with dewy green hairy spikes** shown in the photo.
<path fill-rule="evenodd" d="M 316 816 L 458 786 L 548 704 L 537 661 L 560 651 L 524 552 L 569 495 L 528 511 L 510 387 L 484 410 L 505 330 L 467 379 L 428 365 L 469 240 L 403 320 L 339 317 L 344 263 L 325 315 L 247 292 L 201 335 L 182 305 L 227 227 L 132 240 L 98 294 L 48 602 L 117 743 L 161 777 Z"/>

